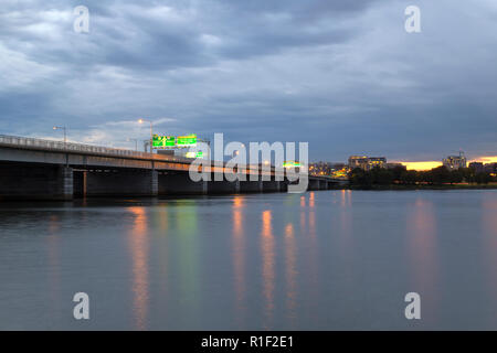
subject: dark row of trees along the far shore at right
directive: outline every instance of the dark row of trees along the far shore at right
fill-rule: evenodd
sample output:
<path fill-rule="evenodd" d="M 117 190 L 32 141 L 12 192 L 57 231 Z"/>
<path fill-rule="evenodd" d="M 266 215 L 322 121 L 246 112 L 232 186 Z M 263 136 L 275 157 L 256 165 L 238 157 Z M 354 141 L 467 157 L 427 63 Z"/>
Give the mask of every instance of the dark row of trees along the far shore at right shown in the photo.
<path fill-rule="evenodd" d="M 456 184 L 456 183 L 476 183 L 488 184 L 497 181 L 488 172 L 476 172 L 472 168 L 459 168 L 457 170 L 448 170 L 446 167 L 437 167 L 429 171 L 405 170 L 405 168 L 396 167 L 393 169 L 373 168 L 364 171 L 360 168 L 353 169 L 349 173 L 349 181 L 352 185 L 415 185 L 415 184 Z"/>

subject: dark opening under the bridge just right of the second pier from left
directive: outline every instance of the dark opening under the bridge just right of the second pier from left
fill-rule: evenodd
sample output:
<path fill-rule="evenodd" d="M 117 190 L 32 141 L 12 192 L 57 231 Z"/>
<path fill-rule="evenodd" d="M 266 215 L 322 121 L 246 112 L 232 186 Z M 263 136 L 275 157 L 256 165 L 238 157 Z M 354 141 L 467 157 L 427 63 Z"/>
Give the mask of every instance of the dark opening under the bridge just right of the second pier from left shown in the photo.
<path fill-rule="evenodd" d="M 159 195 L 204 195 L 208 193 L 208 182 L 194 182 L 189 173 L 159 174 Z"/>

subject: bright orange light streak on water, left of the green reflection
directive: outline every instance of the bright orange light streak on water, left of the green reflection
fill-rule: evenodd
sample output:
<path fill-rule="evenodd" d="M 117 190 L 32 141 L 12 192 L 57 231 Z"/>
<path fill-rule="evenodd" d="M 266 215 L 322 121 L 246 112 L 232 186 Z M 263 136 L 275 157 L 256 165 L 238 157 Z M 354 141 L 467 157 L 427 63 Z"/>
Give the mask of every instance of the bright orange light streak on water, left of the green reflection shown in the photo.
<path fill-rule="evenodd" d="M 135 216 L 128 242 L 133 268 L 133 309 L 138 330 L 147 329 L 149 306 L 147 214 L 144 207 L 130 207 Z"/>

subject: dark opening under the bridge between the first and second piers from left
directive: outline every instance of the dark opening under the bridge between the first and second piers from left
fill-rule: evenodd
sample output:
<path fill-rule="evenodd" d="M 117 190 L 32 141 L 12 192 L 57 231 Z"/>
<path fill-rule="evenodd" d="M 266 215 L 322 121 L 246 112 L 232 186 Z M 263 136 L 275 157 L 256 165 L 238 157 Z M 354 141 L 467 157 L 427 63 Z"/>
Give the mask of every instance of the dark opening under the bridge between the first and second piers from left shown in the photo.
<path fill-rule="evenodd" d="M 157 196 L 155 170 L 97 170 L 86 172 L 87 196 Z"/>

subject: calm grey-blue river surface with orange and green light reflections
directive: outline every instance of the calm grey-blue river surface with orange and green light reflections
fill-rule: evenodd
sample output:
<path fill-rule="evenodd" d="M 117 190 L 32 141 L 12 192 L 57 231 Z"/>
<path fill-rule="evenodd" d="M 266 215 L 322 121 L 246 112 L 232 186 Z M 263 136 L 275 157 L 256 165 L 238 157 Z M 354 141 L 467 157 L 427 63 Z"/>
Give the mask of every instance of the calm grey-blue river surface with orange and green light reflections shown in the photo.
<path fill-rule="evenodd" d="M 0 203 L 0 329 L 496 330 L 497 192 Z"/>

